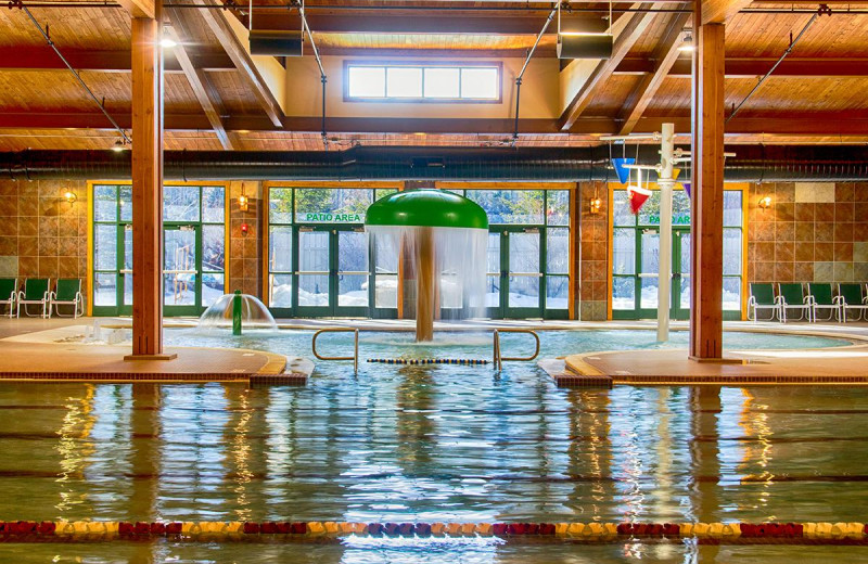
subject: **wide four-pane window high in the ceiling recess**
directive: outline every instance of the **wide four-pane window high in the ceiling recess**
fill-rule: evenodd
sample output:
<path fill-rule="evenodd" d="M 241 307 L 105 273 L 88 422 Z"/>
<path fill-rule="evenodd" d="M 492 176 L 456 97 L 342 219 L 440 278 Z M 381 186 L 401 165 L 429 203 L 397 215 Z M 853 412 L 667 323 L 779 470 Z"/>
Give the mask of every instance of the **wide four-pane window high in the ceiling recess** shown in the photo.
<path fill-rule="evenodd" d="M 350 64 L 346 98 L 358 101 L 492 102 L 500 100 L 500 66 Z"/>

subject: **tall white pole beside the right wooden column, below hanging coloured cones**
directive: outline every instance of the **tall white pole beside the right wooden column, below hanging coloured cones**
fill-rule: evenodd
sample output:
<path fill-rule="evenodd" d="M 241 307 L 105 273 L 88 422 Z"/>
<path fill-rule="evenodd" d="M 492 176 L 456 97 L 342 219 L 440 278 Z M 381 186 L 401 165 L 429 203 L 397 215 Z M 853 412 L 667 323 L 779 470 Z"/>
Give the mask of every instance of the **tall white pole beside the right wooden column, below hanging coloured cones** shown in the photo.
<path fill-rule="evenodd" d="M 672 296 L 672 187 L 675 125 L 661 130 L 660 175 L 660 274 L 658 277 L 658 341 L 669 339 L 669 296 Z"/>

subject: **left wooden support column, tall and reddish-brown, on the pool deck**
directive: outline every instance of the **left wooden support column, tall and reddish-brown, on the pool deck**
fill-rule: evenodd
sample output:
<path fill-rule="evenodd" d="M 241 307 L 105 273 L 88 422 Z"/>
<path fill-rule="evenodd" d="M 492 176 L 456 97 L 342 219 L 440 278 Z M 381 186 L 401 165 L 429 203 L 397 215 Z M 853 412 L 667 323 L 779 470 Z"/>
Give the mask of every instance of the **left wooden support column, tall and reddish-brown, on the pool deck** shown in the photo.
<path fill-rule="evenodd" d="M 161 8 L 132 17 L 132 355 L 163 355 L 163 60 Z"/>

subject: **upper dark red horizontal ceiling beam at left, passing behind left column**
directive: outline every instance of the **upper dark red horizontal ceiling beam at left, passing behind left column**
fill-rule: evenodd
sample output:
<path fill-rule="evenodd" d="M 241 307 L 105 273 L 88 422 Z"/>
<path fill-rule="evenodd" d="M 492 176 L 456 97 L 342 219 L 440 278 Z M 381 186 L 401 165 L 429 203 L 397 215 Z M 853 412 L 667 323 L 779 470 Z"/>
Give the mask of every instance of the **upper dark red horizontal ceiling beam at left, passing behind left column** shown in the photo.
<path fill-rule="evenodd" d="M 222 51 L 197 49 L 188 55 L 201 70 L 235 70 L 232 61 Z M 63 56 L 76 70 L 95 73 L 129 73 L 132 61 L 129 50 L 64 49 Z M 66 70 L 66 65 L 49 47 L 0 47 L 0 70 Z M 164 70 L 183 72 L 171 49 L 166 49 L 164 52 Z"/>

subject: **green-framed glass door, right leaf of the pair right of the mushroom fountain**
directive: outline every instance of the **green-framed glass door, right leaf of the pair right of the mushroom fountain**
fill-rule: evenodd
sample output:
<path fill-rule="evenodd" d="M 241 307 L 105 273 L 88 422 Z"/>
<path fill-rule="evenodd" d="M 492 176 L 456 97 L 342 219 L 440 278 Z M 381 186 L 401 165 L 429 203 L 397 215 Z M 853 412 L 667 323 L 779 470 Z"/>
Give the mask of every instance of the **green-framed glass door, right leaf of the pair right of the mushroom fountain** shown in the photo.
<path fill-rule="evenodd" d="M 542 248 L 539 229 L 508 229 L 501 240 L 501 261 L 505 280 L 501 287 L 501 307 L 508 318 L 542 317 L 540 298 L 540 270 Z M 503 262 L 501 262 L 503 264 Z"/>

